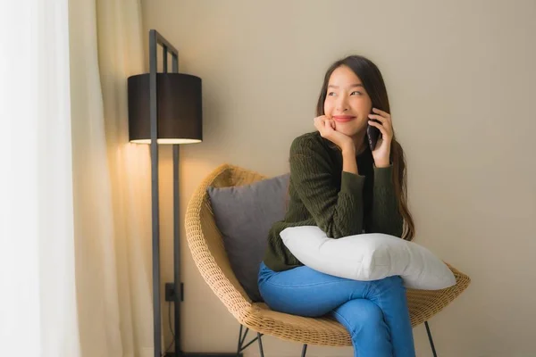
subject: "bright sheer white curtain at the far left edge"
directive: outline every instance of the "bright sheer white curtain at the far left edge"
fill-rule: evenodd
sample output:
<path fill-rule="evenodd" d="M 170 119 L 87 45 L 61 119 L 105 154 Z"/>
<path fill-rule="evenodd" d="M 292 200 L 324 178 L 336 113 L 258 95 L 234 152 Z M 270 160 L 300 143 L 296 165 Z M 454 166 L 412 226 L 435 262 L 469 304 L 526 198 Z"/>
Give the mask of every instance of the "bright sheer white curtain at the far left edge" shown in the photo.
<path fill-rule="evenodd" d="M 0 3 L 0 356 L 79 356 L 67 0 Z"/>

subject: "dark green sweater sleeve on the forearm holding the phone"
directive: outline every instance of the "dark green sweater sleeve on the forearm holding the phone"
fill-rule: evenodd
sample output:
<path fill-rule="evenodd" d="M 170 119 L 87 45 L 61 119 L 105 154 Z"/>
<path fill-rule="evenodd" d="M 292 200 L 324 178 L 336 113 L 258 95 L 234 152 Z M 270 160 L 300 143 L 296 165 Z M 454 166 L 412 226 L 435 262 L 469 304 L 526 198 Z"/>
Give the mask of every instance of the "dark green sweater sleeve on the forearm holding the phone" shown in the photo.
<path fill-rule="evenodd" d="M 368 222 L 370 233 L 402 237 L 403 219 L 392 182 L 392 165 L 374 168 L 373 211 Z"/>

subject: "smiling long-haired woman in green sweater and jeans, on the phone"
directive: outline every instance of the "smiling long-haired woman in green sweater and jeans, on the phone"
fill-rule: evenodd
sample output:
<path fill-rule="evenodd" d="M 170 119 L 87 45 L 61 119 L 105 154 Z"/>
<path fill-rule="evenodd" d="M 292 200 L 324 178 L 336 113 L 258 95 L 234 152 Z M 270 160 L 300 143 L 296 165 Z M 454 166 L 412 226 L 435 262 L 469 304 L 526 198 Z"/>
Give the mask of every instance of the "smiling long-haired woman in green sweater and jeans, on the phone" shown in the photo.
<path fill-rule="evenodd" d="M 289 252 L 280 233 L 318 226 L 332 238 L 378 232 L 412 239 L 406 163 L 389 112 L 387 90 L 373 62 L 352 55 L 331 65 L 318 99 L 316 131 L 290 146 L 289 208 L 270 231 L 258 278 L 272 310 L 334 316 L 348 328 L 359 357 L 415 356 L 402 279 L 356 281 L 312 270 Z M 381 131 L 373 150 L 369 125 Z"/>

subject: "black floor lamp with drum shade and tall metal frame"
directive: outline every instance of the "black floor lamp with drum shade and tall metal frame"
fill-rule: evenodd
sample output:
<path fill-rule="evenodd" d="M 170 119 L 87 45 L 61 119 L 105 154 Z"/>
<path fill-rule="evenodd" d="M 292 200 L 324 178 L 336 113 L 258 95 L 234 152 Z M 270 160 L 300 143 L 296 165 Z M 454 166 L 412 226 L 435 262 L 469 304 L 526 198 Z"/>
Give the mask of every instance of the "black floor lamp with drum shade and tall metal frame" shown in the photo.
<path fill-rule="evenodd" d="M 157 48 L 162 46 L 163 72 L 157 72 Z M 168 71 L 168 57 L 172 71 Z M 183 353 L 180 348 L 180 237 L 179 237 L 179 145 L 203 139 L 201 79 L 179 73 L 179 53 L 155 29 L 149 31 L 149 73 L 131 76 L 129 91 L 130 142 L 150 144 L 152 247 L 153 247 L 153 322 L 155 357 L 162 357 L 162 316 L 160 308 L 160 225 L 158 199 L 158 145 L 173 146 L 173 283 L 175 320 L 175 357 L 236 356 L 236 353 Z"/>

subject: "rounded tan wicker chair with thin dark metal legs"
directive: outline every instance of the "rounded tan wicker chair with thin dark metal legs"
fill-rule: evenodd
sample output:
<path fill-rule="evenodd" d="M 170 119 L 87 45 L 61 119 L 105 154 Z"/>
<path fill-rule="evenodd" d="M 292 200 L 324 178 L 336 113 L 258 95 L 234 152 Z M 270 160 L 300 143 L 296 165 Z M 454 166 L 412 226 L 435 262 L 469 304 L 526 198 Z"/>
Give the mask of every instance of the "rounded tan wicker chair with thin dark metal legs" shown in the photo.
<path fill-rule="evenodd" d="M 330 317 L 300 317 L 272 311 L 264 303 L 253 303 L 231 270 L 206 188 L 240 186 L 260 179 L 266 177 L 237 166 L 223 164 L 197 187 L 186 213 L 186 235 L 194 262 L 214 294 L 240 323 L 237 355 L 241 355 L 248 345 L 257 340 L 261 356 L 264 356 L 261 338 L 264 334 L 303 344 L 302 356 L 306 355 L 307 345 L 352 345 L 347 330 Z M 462 272 L 450 266 L 449 268 L 456 277 L 455 286 L 434 291 L 407 291 L 412 326 L 425 322 L 434 356 L 436 353 L 427 320 L 460 295 L 471 281 Z M 257 336 L 246 344 L 249 329 L 254 330 Z"/>

